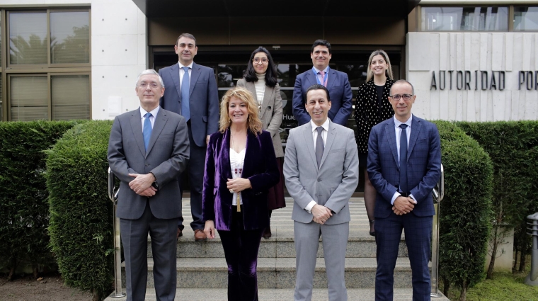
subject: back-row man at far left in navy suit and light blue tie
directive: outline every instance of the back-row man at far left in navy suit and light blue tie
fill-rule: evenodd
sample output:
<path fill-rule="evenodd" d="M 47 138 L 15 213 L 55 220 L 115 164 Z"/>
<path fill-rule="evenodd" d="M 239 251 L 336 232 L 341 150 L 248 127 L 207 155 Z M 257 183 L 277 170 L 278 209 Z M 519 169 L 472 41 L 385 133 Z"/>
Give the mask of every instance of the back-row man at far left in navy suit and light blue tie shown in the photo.
<path fill-rule="evenodd" d="M 219 129 L 219 94 L 212 68 L 193 62 L 198 52 L 196 39 L 182 33 L 174 46 L 178 64 L 159 70 L 165 86 L 161 107 L 185 117 L 190 142 L 190 160 L 187 166 L 190 185 L 190 211 L 195 241 L 206 240 L 205 223 L 202 222 L 202 183 L 204 179 L 205 152 L 210 135 Z M 186 71 L 185 71 L 186 70 Z M 183 175 L 185 178 L 185 174 Z M 179 178 L 181 183 L 181 178 Z M 181 185 L 180 185 L 181 188 Z M 183 188 L 181 194 L 183 196 Z M 183 217 L 178 223 L 177 237 L 181 237 Z"/>

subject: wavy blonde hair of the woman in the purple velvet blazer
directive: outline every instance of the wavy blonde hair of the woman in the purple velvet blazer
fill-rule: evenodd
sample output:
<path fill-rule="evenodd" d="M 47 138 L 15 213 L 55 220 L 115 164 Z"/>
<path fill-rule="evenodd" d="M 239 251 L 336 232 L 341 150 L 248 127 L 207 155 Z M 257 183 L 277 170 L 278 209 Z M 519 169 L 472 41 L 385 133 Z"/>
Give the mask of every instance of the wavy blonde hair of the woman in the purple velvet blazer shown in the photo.
<path fill-rule="evenodd" d="M 246 110 L 248 112 L 246 127 L 248 127 L 248 130 L 253 132 L 256 136 L 261 134 L 262 126 L 258 115 L 258 104 L 254 100 L 254 96 L 252 96 L 251 92 L 241 87 L 229 89 L 226 94 L 222 96 L 222 101 L 220 103 L 219 132 L 226 132 L 231 125 L 231 119 L 228 115 L 228 106 L 232 97 L 238 98 L 246 103 Z"/>

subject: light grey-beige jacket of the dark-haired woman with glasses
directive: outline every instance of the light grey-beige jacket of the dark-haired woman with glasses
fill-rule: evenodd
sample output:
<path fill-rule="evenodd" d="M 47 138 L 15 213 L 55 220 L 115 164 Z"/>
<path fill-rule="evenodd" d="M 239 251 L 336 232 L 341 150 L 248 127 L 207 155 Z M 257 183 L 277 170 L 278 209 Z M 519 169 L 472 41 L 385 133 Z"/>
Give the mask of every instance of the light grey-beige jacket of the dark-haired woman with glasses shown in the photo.
<path fill-rule="evenodd" d="M 239 81 L 237 81 L 237 86 L 244 87 L 250 91 L 256 102 L 258 102 L 256 86 L 254 86 L 254 83 L 246 81 L 245 79 L 239 79 Z M 263 101 L 261 103 L 260 118 L 263 130 L 270 132 L 271 137 L 273 138 L 275 156 L 277 158 L 284 157 L 282 140 L 280 140 L 280 133 L 278 131 L 280 124 L 282 123 L 282 96 L 280 96 L 280 86 L 278 86 L 278 84 L 274 87 L 265 86 L 265 93 L 263 93 Z"/>

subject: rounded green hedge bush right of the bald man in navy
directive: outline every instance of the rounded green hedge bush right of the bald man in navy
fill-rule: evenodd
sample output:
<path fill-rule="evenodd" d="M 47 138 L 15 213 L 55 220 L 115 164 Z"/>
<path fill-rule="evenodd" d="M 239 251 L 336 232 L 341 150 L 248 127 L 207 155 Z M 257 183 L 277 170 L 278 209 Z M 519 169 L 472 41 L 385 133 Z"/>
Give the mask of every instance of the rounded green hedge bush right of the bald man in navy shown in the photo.
<path fill-rule="evenodd" d="M 440 203 L 440 278 L 462 295 L 484 276 L 491 231 L 493 166 L 482 147 L 453 123 L 436 121 L 445 168 Z"/>

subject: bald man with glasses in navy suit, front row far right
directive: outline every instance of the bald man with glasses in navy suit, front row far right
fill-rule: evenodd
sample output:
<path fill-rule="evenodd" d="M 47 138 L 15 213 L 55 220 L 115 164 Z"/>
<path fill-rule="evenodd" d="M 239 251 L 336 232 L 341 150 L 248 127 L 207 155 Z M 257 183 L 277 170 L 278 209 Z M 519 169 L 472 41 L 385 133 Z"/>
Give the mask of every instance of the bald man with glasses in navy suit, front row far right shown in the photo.
<path fill-rule="evenodd" d="M 375 300 L 393 299 L 402 229 L 413 274 L 413 301 L 430 300 L 432 190 L 440 178 L 440 137 L 433 123 L 411 114 L 416 98 L 411 83 L 396 81 L 390 94 L 394 118 L 372 127 L 368 140 L 367 171 L 377 191 Z"/>

